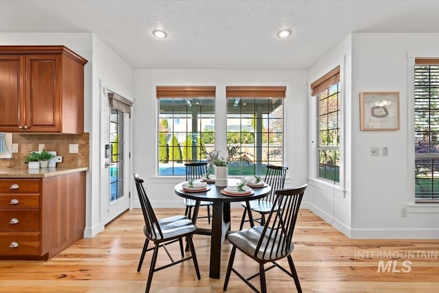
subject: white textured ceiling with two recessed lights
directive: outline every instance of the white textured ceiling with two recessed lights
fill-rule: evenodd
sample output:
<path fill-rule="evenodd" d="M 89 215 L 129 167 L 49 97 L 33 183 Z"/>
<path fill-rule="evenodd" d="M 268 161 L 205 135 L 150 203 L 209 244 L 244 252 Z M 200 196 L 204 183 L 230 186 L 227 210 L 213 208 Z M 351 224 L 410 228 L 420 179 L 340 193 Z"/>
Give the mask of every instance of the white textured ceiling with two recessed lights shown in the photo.
<path fill-rule="evenodd" d="M 0 0 L 0 32 L 93 32 L 134 68 L 291 69 L 351 32 L 439 32 L 438 14 L 436 0 Z"/>

